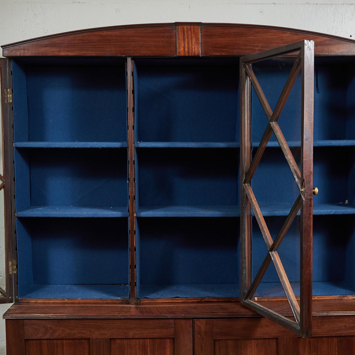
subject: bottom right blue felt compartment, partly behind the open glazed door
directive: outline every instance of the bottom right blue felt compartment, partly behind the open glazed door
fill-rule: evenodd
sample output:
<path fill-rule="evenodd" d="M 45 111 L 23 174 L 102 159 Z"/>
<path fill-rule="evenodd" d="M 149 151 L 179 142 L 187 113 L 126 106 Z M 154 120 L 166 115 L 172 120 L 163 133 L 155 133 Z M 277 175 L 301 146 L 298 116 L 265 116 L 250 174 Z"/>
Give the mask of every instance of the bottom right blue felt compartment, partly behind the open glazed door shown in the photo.
<path fill-rule="evenodd" d="M 266 217 L 273 239 L 286 217 Z M 252 272 L 255 277 L 267 248 L 252 218 Z M 300 217 L 297 216 L 279 246 L 279 256 L 296 296 L 300 295 Z M 313 217 L 313 296 L 353 295 L 355 292 L 355 223 L 353 215 Z M 285 296 L 271 263 L 254 296 Z"/>

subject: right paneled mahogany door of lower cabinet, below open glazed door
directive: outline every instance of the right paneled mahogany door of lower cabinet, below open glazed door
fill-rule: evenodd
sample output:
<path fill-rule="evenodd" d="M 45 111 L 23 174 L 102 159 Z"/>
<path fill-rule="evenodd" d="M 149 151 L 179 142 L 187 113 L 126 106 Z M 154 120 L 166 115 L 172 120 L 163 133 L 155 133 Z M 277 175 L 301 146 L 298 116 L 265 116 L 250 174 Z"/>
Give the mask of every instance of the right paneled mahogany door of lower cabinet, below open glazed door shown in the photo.
<path fill-rule="evenodd" d="M 195 320 L 195 355 L 354 354 L 355 320 L 351 318 L 355 317 L 315 317 L 315 336 L 310 339 L 265 318 Z M 329 326 L 324 327 L 324 322 Z M 328 336 L 334 333 L 348 336 Z"/>

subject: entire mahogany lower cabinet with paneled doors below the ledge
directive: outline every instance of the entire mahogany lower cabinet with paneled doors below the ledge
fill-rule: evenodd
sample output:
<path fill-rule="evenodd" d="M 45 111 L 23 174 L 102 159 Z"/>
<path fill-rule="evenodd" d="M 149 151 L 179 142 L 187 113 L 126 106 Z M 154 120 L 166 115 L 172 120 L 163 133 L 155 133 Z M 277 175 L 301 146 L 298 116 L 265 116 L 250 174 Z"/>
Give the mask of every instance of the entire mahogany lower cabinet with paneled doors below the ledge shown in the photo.
<path fill-rule="evenodd" d="M 355 316 L 313 317 L 313 337 L 266 318 L 7 319 L 7 355 L 355 354 Z"/>

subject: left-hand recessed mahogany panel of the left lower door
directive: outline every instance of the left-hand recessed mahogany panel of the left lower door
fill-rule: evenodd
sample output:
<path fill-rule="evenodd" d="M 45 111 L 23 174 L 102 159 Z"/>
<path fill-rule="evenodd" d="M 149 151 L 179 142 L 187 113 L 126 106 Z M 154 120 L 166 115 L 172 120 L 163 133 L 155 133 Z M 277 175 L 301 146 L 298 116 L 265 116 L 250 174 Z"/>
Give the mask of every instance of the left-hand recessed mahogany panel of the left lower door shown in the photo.
<path fill-rule="evenodd" d="M 26 355 L 90 355 L 89 339 L 27 340 Z"/>

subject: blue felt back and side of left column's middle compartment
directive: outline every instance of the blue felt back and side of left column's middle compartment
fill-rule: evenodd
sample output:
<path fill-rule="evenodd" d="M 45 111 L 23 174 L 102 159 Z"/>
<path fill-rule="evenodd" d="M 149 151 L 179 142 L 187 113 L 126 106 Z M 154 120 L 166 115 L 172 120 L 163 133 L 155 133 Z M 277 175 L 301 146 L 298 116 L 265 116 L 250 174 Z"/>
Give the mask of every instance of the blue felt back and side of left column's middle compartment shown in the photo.
<path fill-rule="evenodd" d="M 128 210 L 127 149 L 17 149 L 15 159 L 17 211 L 30 205 Z"/>

